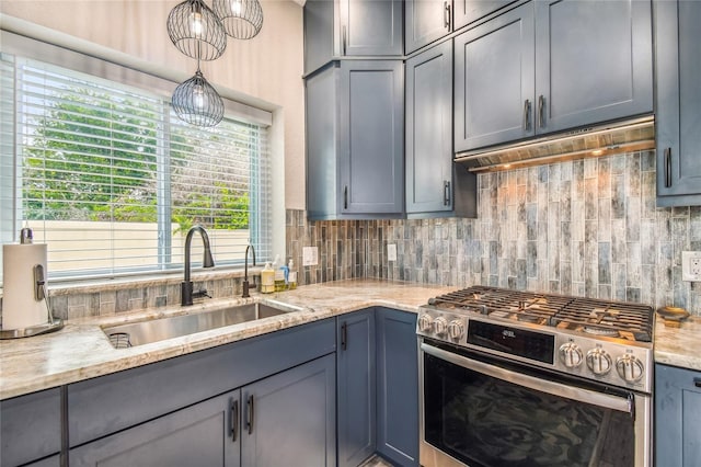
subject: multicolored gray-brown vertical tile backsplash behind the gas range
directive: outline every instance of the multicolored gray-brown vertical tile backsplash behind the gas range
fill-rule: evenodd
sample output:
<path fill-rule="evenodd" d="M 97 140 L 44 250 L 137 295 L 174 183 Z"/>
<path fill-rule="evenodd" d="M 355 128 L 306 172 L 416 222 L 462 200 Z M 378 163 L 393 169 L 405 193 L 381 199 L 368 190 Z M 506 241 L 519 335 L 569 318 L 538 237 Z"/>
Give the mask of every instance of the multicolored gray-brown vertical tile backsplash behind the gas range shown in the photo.
<path fill-rule="evenodd" d="M 701 251 L 701 206 L 655 205 L 655 153 L 480 174 L 476 219 L 309 221 L 287 210 L 301 284 L 378 277 L 676 305 L 701 315 L 681 251 Z M 397 261 L 387 244 L 395 243 Z"/>

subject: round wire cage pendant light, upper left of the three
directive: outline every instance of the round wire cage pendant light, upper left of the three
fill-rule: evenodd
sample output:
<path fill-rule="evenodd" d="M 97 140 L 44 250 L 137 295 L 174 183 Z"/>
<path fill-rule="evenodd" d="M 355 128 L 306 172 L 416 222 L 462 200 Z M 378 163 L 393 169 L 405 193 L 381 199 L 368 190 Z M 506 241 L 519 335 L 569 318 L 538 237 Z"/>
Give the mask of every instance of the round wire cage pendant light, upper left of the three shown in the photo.
<path fill-rule="evenodd" d="M 227 48 L 221 21 L 203 0 L 185 0 L 168 15 L 168 35 L 180 52 L 198 60 L 215 60 Z"/>

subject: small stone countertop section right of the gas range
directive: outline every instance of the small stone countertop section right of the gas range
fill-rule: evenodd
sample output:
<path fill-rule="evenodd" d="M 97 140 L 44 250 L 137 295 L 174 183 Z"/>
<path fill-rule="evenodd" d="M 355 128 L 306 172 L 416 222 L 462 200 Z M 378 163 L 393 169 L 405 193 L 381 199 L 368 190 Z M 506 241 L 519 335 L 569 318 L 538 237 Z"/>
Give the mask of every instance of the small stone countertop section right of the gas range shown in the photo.
<path fill-rule="evenodd" d="M 679 328 L 655 322 L 655 363 L 701 371 L 701 317 L 691 316 Z"/>

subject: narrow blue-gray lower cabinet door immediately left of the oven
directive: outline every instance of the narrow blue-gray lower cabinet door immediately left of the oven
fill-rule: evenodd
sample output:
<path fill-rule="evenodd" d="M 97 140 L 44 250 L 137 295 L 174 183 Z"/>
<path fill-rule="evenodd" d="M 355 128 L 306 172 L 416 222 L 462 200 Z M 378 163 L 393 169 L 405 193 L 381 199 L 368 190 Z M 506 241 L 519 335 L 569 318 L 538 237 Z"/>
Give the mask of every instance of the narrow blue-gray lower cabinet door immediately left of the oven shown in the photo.
<path fill-rule="evenodd" d="M 377 451 L 401 466 L 418 465 L 416 314 L 377 308 Z"/>

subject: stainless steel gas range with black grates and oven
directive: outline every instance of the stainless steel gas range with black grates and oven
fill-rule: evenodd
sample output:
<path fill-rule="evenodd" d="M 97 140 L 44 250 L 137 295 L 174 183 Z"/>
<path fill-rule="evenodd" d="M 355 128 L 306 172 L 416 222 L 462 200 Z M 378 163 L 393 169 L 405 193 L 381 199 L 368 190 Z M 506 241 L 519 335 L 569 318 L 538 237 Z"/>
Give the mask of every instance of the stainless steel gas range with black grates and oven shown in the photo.
<path fill-rule="evenodd" d="M 648 467 L 653 309 L 474 286 L 417 321 L 421 464 Z"/>

